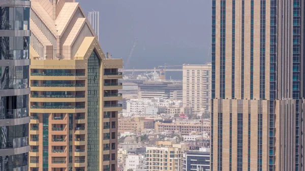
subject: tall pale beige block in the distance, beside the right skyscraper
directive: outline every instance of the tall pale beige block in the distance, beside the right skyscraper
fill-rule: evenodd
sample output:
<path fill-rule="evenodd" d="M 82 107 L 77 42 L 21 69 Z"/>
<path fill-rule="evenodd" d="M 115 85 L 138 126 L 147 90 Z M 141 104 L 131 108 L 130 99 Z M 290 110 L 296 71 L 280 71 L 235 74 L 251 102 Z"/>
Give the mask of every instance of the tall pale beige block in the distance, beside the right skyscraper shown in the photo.
<path fill-rule="evenodd" d="M 193 112 L 207 112 L 211 98 L 211 63 L 183 64 L 183 107 Z"/>

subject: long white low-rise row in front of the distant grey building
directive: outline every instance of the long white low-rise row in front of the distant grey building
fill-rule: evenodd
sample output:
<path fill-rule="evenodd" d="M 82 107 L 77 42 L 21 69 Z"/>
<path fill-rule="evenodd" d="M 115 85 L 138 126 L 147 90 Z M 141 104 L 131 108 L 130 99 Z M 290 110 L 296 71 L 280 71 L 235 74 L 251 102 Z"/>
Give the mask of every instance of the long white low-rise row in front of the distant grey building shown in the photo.
<path fill-rule="evenodd" d="M 136 98 L 126 102 L 127 112 L 144 112 L 148 106 L 159 106 L 168 108 L 170 106 L 181 104 L 181 101 L 173 101 L 163 98 Z"/>

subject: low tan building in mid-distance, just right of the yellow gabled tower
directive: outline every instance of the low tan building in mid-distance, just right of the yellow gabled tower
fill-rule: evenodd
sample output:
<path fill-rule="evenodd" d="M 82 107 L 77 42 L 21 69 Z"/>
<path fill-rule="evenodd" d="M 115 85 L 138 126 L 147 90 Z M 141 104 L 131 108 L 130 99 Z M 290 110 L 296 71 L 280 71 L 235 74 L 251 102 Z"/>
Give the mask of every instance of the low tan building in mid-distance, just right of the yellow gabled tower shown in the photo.
<path fill-rule="evenodd" d="M 155 128 L 154 120 L 146 120 L 144 117 L 134 118 L 118 118 L 118 132 L 124 133 L 126 131 L 134 132 Z"/>

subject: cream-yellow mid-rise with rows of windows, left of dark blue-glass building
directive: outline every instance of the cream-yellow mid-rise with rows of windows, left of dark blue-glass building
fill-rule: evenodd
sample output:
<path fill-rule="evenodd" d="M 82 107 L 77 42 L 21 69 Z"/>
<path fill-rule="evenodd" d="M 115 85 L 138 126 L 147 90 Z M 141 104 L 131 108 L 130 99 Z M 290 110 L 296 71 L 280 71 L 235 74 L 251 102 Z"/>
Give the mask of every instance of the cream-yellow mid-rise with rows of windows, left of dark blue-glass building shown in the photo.
<path fill-rule="evenodd" d="M 187 150 L 184 144 L 157 142 L 157 147 L 146 147 L 145 161 L 147 171 L 182 170 L 182 156 Z"/>

